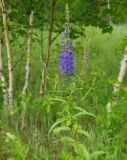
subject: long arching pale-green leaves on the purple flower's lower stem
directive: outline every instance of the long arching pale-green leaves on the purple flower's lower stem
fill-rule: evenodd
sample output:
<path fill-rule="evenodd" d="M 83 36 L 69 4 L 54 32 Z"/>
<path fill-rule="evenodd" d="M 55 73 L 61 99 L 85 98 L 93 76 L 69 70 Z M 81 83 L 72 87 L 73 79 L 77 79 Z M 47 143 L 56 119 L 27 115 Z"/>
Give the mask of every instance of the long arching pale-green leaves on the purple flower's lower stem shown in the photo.
<path fill-rule="evenodd" d="M 53 139 L 59 139 L 58 142 L 55 142 L 56 146 L 61 146 L 62 154 L 60 155 L 60 159 L 63 159 L 65 156 L 63 155 L 66 150 L 70 150 L 73 154 L 71 154 L 71 159 L 86 159 L 86 160 L 92 160 L 95 158 L 95 155 L 98 156 L 99 154 L 102 154 L 103 152 L 97 151 L 93 153 L 89 153 L 89 151 L 86 149 L 85 144 L 82 144 L 80 142 L 80 139 L 78 137 L 82 137 L 82 140 L 84 139 L 84 142 L 88 139 L 90 141 L 90 134 L 83 130 L 83 127 L 78 122 L 79 116 L 92 116 L 93 114 L 86 112 L 84 109 L 79 107 L 74 107 L 74 109 L 78 110 L 78 113 L 72 114 L 71 112 L 60 114 L 62 115 L 62 119 L 58 119 L 51 127 L 49 131 L 49 135 L 51 132 L 53 132 Z M 71 109 L 73 111 L 73 109 Z M 65 115 L 63 117 L 63 115 Z M 95 118 L 95 117 L 94 117 Z M 65 148 L 66 147 L 66 148 Z M 65 148 L 65 151 L 64 151 Z"/>

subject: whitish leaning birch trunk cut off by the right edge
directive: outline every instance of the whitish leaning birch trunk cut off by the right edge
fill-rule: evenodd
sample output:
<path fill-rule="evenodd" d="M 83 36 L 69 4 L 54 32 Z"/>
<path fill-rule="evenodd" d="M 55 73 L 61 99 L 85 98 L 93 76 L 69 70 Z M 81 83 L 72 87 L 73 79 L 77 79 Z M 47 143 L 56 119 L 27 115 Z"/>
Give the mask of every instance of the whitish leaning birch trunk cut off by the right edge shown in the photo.
<path fill-rule="evenodd" d="M 114 92 L 118 91 L 120 88 L 121 83 L 123 82 L 125 73 L 126 73 L 126 68 L 127 68 L 127 46 L 125 48 L 125 53 L 123 56 L 123 59 L 121 61 L 121 66 L 120 66 L 120 72 L 118 75 L 118 83 L 114 85 Z"/>

